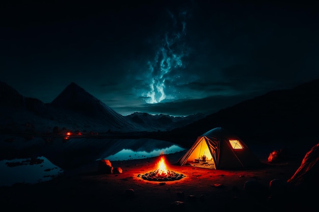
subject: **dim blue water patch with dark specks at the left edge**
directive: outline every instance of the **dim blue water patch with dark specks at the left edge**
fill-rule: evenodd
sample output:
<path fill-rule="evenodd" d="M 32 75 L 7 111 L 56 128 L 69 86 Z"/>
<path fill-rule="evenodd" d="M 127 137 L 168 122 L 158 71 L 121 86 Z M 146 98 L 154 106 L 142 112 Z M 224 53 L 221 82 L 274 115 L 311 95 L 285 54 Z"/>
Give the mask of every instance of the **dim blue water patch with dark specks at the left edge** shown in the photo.
<path fill-rule="evenodd" d="M 50 180 L 63 172 L 45 157 L 3 160 L 0 161 L 0 170 L 0 186 L 35 184 Z"/>

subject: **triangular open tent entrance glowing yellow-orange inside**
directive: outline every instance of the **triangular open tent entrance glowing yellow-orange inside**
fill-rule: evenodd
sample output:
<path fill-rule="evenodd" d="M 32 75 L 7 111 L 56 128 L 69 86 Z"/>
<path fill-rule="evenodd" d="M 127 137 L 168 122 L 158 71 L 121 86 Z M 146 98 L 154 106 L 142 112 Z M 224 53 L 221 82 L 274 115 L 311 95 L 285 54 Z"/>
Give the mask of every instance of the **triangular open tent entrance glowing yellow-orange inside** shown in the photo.
<path fill-rule="evenodd" d="M 185 165 L 216 169 L 214 158 L 211 155 L 211 150 L 208 147 L 205 137 L 202 137 L 197 143 Z"/>

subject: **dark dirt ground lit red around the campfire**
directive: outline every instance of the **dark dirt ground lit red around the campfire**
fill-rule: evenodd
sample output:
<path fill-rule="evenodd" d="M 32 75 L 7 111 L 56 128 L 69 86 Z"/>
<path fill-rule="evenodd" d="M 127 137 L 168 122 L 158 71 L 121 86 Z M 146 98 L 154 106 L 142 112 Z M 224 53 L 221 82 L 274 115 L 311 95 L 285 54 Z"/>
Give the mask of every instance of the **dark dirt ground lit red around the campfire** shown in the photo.
<path fill-rule="evenodd" d="M 2 211 L 276 211 L 267 196 L 244 191 L 245 182 L 257 180 L 265 188 L 272 179 L 287 180 L 301 164 L 292 160 L 253 170 L 215 170 L 175 165 L 180 154 L 165 155 L 167 168 L 184 177 L 149 181 L 141 175 L 157 169 L 156 158 L 114 161 L 120 174 L 99 174 L 98 162 L 65 172 L 34 185 L 2 187 Z M 276 203 L 278 204 L 278 203 Z M 291 207 L 282 207 L 294 211 Z M 287 211 L 288 211 L 287 210 Z M 285 210 L 286 211 L 286 210 Z M 297 211 L 297 209 L 296 209 Z"/>

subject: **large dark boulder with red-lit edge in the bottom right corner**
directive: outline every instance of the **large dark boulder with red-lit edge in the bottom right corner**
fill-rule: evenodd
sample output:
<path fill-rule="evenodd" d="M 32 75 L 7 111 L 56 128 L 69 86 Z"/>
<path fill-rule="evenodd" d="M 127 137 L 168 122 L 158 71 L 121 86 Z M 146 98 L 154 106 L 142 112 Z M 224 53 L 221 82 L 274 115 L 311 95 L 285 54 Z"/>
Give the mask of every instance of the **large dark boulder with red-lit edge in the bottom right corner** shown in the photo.
<path fill-rule="evenodd" d="M 300 167 L 288 180 L 273 179 L 269 203 L 275 211 L 315 211 L 319 189 L 319 143 L 305 155 Z"/>

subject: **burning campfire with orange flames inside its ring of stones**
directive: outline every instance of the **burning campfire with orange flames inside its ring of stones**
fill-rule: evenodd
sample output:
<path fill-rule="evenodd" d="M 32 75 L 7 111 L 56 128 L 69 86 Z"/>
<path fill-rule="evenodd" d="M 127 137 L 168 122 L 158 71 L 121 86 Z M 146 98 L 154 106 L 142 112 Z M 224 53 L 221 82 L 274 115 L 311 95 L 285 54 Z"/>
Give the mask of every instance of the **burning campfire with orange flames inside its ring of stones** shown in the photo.
<path fill-rule="evenodd" d="M 142 175 L 142 179 L 150 181 L 173 181 L 183 178 L 183 174 L 167 169 L 165 157 L 162 155 L 157 163 L 157 169 Z"/>

